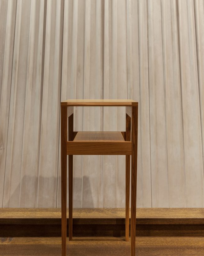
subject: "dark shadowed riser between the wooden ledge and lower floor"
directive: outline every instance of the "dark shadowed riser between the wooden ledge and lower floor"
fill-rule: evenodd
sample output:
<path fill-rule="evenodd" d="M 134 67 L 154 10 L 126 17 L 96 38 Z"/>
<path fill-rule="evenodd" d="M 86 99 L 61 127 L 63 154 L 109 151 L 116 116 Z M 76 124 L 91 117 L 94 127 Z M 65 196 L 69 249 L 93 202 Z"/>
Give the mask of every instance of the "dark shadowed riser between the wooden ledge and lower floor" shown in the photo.
<path fill-rule="evenodd" d="M 136 237 L 138 236 L 191 236 L 203 237 L 203 224 L 138 224 L 136 226 Z M 15 223 L 7 222 L 1 224 L 2 237 L 60 237 L 60 219 L 22 220 Z M 67 237 L 69 233 L 67 232 Z M 73 219 L 73 236 L 92 236 L 92 237 L 125 237 L 125 219 Z"/>

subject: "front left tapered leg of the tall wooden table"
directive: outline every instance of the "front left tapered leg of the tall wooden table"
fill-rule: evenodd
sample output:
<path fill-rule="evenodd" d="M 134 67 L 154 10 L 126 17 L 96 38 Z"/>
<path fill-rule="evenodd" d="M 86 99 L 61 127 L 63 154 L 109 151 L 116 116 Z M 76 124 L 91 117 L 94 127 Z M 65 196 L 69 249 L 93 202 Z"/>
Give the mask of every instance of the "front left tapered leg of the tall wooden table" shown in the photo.
<path fill-rule="evenodd" d="M 66 255 L 67 238 L 67 107 L 61 107 L 61 203 L 62 256 Z"/>

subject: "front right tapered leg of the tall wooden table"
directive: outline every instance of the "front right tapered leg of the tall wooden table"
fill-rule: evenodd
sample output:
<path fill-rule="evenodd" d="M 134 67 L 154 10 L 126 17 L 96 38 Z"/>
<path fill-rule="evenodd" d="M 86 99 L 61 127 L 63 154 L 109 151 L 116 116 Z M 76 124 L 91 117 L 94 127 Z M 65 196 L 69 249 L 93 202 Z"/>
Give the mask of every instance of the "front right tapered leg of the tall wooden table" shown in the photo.
<path fill-rule="evenodd" d="M 136 235 L 136 192 L 137 192 L 137 133 L 138 133 L 138 106 L 132 107 L 132 161 L 131 161 L 131 220 L 130 220 L 130 255 L 135 256 Z"/>

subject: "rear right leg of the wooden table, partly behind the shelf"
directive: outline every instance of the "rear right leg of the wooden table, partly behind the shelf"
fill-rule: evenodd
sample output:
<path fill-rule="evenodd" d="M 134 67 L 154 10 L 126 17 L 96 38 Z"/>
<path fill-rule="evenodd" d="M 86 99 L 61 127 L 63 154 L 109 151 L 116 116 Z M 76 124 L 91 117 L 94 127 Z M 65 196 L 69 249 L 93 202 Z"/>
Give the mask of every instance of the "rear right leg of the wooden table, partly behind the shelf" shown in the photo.
<path fill-rule="evenodd" d="M 131 118 L 126 114 L 126 141 L 130 141 Z M 130 227 L 130 155 L 126 155 L 126 241 L 129 241 Z"/>

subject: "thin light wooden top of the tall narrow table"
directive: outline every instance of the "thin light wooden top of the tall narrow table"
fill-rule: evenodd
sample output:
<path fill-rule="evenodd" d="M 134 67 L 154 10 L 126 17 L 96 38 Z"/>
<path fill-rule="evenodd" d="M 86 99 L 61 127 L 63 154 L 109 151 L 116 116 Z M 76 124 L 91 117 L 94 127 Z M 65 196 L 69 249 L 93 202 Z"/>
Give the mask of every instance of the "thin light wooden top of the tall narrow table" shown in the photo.
<path fill-rule="evenodd" d="M 61 106 L 137 106 L 131 99 L 69 99 L 61 102 Z"/>

